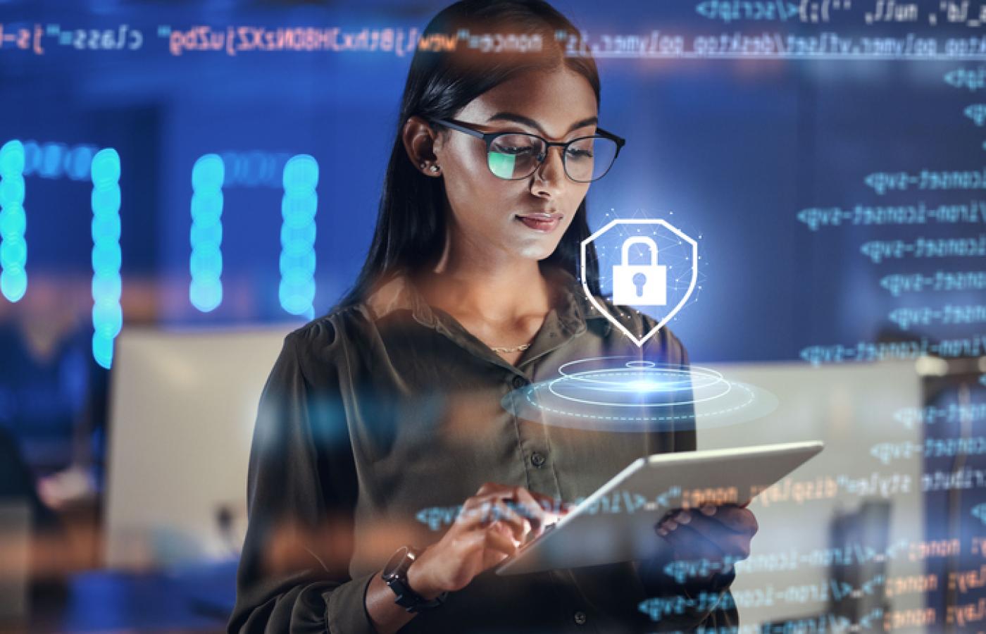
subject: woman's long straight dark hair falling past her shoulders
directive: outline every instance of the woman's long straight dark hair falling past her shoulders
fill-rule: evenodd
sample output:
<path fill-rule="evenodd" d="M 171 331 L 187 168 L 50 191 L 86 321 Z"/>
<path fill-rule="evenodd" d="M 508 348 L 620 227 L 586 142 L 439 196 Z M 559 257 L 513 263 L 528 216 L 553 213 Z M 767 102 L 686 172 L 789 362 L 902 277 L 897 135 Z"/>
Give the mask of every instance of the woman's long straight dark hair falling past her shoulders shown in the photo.
<path fill-rule="evenodd" d="M 539 35 L 536 52 L 483 53 L 469 49 L 456 37 L 449 50 L 418 47 L 404 85 L 400 114 L 373 243 L 353 288 L 340 302 L 347 306 L 363 301 L 374 285 L 399 271 L 414 271 L 437 263 L 446 241 L 445 185 L 412 165 L 401 138 L 404 123 L 413 115 L 425 119 L 451 118 L 483 93 L 531 70 L 567 67 L 585 77 L 599 104 L 599 71 L 590 56 L 566 57 L 559 34 L 578 34 L 575 26 L 543 0 L 460 0 L 441 11 L 425 28 L 422 39 L 432 35 L 471 34 Z M 543 262 L 555 264 L 577 277 L 582 241 L 589 238 L 586 201 L 558 247 Z M 595 248 L 586 253 L 586 276 L 590 290 L 599 295 L 599 265 Z"/>

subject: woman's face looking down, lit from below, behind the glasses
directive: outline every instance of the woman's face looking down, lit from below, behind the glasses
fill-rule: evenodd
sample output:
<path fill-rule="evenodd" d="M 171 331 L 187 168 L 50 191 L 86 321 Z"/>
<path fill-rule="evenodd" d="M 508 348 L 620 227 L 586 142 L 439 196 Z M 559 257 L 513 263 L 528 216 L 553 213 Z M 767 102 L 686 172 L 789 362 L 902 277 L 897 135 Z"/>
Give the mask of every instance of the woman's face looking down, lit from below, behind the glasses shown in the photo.
<path fill-rule="evenodd" d="M 568 69 L 532 71 L 484 93 L 453 116 L 482 132 L 528 132 L 568 141 L 596 132 L 598 106 L 589 82 Z M 482 139 L 445 130 L 435 141 L 460 253 L 544 259 L 568 229 L 588 182 L 565 175 L 562 148 L 552 147 L 534 174 L 494 176 Z M 547 222 L 543 214 L 552 214 Z M 540 216 L 539 216 L 540 215 Z"/>

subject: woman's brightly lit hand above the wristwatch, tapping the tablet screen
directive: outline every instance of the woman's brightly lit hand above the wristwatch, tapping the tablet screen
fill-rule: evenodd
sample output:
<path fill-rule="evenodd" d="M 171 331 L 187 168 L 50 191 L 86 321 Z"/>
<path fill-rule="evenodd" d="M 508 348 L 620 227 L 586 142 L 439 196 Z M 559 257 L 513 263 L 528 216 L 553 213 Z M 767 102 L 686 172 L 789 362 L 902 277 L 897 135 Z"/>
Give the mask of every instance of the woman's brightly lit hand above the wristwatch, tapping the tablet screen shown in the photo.
<path fill-rule="evenodd" d="M 487 482 L 465 500 L 452 527 L 407 570 L 411 590 L 425 599 L 461 590 L 479 573 L 517 552 L 528 533 L 557 521 L 551 498 L 521 486 Z"/>

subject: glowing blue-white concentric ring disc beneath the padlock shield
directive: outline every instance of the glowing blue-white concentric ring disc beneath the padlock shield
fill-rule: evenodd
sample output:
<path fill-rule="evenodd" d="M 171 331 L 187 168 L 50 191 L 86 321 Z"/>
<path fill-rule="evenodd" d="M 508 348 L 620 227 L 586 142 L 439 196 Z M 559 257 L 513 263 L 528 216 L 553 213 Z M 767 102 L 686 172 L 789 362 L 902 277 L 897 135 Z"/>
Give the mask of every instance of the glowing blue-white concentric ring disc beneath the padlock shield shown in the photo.
<path fill-rule="evenodd" d="M 760 418 L 777 406 L 770 392 L 729 381 L 710 368 L 658 364 L 638 357 L 566 363 L 559 377 L 515 389 L 503 406 L 547 425 L 594 431 L 661 431 L 693 422 L 724 427 Z"/>

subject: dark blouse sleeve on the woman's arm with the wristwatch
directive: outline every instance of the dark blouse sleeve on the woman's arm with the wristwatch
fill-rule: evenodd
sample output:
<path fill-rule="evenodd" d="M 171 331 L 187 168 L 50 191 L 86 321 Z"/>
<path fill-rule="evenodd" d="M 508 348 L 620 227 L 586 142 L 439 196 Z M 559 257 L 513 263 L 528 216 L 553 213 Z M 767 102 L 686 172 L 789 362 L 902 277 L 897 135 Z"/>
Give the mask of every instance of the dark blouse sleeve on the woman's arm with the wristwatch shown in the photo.
<path fill-rule="evenodd" d="M 311 362 L 339 346 L 326 317 L 292 332 L 261 392 L 229 632 L 375 633 L 372 575 L 348 571 L 358 486 L 339 373 Z"/>

